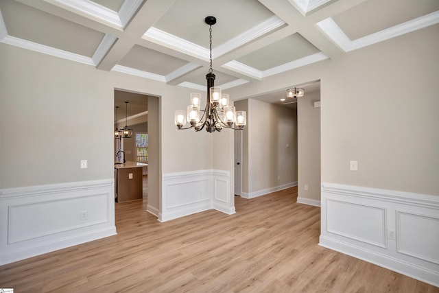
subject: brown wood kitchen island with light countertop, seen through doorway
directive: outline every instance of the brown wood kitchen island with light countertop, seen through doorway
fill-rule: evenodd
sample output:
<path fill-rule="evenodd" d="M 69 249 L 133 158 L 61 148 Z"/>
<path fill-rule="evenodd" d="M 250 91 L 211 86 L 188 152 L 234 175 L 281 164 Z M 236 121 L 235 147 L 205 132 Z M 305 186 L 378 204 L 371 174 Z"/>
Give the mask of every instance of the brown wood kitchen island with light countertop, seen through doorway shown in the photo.
<path fill-rule="evenodd" d="M 143 166 L 147 164 L 126 161 L 115 163 L 115 200 L 127 202 L 142 199 Z"/>

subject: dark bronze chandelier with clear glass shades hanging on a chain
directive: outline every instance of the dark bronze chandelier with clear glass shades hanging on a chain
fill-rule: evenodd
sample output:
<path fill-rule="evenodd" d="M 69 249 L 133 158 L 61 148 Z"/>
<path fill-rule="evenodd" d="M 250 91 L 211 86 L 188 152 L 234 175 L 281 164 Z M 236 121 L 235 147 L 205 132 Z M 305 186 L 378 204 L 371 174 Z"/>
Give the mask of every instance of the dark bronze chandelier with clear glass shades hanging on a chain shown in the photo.
<path fill-rule="evenodd" d="M 222 128 L 242 130 L 246 126 L 246 111 L 236 111 L 235 106 L 229 105 L 228 94 L 222 93 L 219 86 L 215 86 L 215 74 L 212 73 L 212 25 L 217 22 L 214 16 L 207 16 L 204 22 L 209 25 L 210 36 L 210 63 L 207 80 L 206 107 L 200 110 L 201 94 L 191 93 L 191 104 L 184 110 L 176 110 L 174 122 L 177 129 L 195 128 L 200 131 L 206 128 L 207 132 L 221 131 Z M 184 127 L 186 121 L 190 126 Z"/>

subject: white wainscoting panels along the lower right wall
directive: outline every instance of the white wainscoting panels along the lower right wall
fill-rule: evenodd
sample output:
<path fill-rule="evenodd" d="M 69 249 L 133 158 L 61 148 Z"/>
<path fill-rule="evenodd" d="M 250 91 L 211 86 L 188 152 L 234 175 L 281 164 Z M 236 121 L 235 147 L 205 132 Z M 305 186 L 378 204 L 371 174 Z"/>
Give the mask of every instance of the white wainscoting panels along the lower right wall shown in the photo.
<path fill-rule="evenodd" d="M 439 196 L 322 183 L 319 245 L 439 286 Z"/>

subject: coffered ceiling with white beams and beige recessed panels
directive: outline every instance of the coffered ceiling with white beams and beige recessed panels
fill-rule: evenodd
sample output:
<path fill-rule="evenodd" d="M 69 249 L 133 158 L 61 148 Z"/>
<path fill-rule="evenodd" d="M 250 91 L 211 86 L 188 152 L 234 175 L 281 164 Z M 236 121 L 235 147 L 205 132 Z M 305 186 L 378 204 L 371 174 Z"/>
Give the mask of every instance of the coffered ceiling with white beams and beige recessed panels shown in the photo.
<path fill-rule="evenodd" d="M 0 42 L 204 93 L 206 16 L 215 85 L 231 89 L 436 25 L 439 1 L 0 0 Z"/>

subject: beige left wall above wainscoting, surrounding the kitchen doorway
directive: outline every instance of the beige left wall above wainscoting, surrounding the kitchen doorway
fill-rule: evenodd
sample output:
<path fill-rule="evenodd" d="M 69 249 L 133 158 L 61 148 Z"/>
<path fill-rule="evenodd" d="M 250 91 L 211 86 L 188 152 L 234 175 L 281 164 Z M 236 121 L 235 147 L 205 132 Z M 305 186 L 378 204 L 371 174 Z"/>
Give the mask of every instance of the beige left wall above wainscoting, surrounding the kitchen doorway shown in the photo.
<path fill-rule="evenodd" d="M 174 110 L 186 108 L 189 89 L 5 44 L 0 63 L 0 122 L 13 126 L 0 130 L 0 188 L 112 178 L 115 89 L 161 96 L 162 172 L 215 167 L 211 134 L 174 126 Z M 88 169 L 80 169 L 81 159 Z"/>

